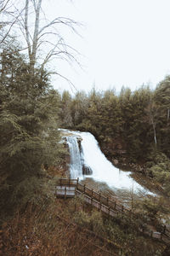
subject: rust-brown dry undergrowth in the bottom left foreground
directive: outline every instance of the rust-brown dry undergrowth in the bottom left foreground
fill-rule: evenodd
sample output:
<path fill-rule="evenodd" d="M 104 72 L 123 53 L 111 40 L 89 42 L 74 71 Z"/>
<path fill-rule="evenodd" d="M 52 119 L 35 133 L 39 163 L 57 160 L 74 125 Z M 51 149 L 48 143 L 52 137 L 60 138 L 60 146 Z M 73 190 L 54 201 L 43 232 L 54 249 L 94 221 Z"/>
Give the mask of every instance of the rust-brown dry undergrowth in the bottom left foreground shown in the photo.
<path fill-rule="evenodd" d="M 0 232 L 2 256 L 85 256 L 117 255 L 106 249 L 105 242 L 91 236 L 87 230 L 59 218 L 59 201 L 48 207 L 29 205 L 3 224 Z"/>

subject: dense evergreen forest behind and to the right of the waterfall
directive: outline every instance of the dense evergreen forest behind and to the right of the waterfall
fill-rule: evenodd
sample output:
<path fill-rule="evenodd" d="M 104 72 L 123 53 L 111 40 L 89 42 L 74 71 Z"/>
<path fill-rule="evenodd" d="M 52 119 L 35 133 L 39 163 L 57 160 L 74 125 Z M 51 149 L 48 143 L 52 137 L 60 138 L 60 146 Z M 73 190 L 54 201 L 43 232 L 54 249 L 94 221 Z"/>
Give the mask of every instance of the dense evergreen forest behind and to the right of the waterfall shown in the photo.
<path fill-rule="evenodd" d="M 77 92 L 76 96 L 64 91 L 60 118 L 65 128 L 92 132 L 113 163 L 117 160 L 126 167 L 142 166 L 139 169 L 161 182 L 169 194 L 169 90 L 168 76 L 156 90 L 142 86 L 132 92 L 122 87 L 119 95 L 114 90 L 92 90 L 88 95 Z"/>

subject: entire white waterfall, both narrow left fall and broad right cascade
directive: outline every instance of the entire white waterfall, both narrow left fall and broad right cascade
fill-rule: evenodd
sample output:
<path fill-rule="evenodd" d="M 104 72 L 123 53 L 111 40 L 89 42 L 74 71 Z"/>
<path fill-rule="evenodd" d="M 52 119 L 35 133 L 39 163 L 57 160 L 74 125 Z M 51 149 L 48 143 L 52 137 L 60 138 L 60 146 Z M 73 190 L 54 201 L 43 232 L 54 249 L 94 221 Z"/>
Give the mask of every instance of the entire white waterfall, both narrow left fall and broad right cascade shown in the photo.
<path fill-rule="evenodd" d="M 66 138 L 71 155 L 71 178 L 90 177 L 95 182 L 106 183 L 111 189 L 127 189 L 152 194 L 130 177 L 131 172 L 122 171 L 113 166 L 101 152 L 99 143 L 91 133 L 64 129 L 61 131 Z"/>

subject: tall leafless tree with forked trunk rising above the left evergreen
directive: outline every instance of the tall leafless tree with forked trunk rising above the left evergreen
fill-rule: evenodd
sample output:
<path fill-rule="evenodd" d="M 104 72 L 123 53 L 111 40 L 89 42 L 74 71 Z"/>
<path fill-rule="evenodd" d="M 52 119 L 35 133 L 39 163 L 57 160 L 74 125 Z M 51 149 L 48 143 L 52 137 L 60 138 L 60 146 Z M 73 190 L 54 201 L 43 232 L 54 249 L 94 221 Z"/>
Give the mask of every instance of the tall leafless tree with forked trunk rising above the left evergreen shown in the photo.
<path fill-rule="evenodd" d="M 20 14 L 20 11 L 19 11 Z M 43 18 L 42 18 L 43 16 Z M 29 17 L 30 20 L 29 20 Z M 77 50 L 65 43 L 65 39 L 59 33 L 59 26 L 65 26 L 72 32 L 77 33 L 76 27 L 80 25 L 75 20 L 71 20 L 65 17 L 57 17 L 54 20 L 47 20 L 42 12 L 42 0 L 25 0 L 25 13 L 24 17 L 20 16 L 19 25 L 20 30 L 26 39 L 26 45 L 28 49 L 29 64 L 31 73 L 34 73 L 34 69 L 37 63 L 41 64 L 41 68 L 52 58 L 62 59 L 64 61 L 77 61 L 75 55 L 78 54 Z M 33 29 L 30 26 L 30 22 L 34 20 Z M 54 42 L 51 42 L 47 38 L 53 36 Z M 43 55 L 42 61 L 38 58 L 40 50 L 48 48 L 46 55 Z M 62 78 L 66 79 L 63 75 L 54 71 Z"/>

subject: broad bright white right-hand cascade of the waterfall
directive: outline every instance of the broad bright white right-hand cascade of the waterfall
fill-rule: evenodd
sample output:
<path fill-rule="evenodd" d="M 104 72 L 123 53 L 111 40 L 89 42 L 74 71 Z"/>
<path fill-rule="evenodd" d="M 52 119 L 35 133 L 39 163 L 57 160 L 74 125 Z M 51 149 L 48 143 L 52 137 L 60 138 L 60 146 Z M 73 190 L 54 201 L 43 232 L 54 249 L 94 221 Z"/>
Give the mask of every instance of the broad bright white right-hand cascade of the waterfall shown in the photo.
<path fill-rule="evenodd" d="M 131 172 L 120 171 L 106 159 L 92 134 L 82 132 L 81 137 L 84 162 L 91 167 L 92 177 L 96 181 L 105 182 L 116 189 L 143 189 L 129 176 Z"/>

